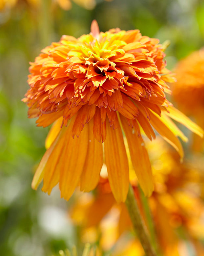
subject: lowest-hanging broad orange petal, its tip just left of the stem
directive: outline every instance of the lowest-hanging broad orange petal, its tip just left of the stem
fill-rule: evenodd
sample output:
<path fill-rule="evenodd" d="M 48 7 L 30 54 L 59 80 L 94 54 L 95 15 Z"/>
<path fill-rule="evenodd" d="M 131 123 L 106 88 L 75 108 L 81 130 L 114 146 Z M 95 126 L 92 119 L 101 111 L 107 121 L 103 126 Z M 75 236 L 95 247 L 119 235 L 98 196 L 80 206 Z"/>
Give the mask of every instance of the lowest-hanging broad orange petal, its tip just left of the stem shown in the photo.
<path fill-rule="evenodd" d="M 123 135 L 120 126 L 113 130 L 109 127 L 108 120 L 106 123 L 107 134 L 104 142 L 104 151 L 108 179 L 116 201 L 124 202 L 128 193 L 129 174 Z"/>

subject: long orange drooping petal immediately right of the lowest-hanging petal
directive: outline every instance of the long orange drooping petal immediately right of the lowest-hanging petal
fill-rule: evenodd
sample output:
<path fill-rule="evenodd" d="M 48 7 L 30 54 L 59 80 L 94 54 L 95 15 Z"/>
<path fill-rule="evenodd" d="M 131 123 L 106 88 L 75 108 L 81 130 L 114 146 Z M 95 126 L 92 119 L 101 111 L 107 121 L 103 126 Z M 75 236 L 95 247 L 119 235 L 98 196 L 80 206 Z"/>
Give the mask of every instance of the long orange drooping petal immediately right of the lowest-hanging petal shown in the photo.
<path fill-rule="evenodd" d="M 153 192 L 154 185 L 151 164 L 145 143 L 141 136 L 138 137 L 135 132 L 133 133 L 133 128 L 129 126 L 126 118 L 120 115 L 120 120 L 128 141 L 132 164 L 139 184 L 145 195 L 150 196 Z"/>

